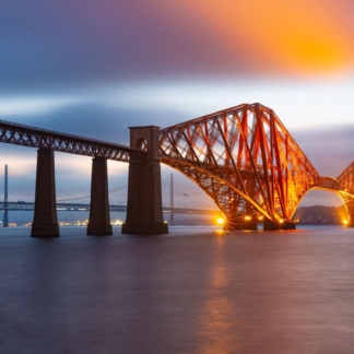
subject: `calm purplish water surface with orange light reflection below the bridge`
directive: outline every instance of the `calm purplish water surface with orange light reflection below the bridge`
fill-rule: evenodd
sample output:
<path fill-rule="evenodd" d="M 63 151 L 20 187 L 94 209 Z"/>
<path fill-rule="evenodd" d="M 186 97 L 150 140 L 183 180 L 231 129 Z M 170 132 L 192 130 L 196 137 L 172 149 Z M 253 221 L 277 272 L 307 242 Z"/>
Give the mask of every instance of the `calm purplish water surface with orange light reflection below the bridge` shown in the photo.
<path fill-rule="evenodd" d="M 354 229 L 0 228 L 0 353 L 353 353 Z"/>

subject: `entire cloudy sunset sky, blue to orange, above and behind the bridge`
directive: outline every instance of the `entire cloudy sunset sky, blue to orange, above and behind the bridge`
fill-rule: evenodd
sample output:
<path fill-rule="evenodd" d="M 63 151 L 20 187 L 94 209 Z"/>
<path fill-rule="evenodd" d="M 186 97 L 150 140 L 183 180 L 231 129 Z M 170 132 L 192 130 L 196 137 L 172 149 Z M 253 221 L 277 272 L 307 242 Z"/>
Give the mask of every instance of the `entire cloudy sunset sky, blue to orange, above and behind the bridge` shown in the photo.
<path fill-rule="evenodd" d="M 2 0 L 0 119 L 129 144 L 128 127 L 259 102 L 337 177 L 354 160 L 353 14 L 351 0 Z M 4 164 L 34 175 L 36 151 L 1 144 Z M 126 164 L 108 169 L 127 184 Z M 91 158 L 56 153 L 58 188 L 85 196 L 90 176 Z"/>

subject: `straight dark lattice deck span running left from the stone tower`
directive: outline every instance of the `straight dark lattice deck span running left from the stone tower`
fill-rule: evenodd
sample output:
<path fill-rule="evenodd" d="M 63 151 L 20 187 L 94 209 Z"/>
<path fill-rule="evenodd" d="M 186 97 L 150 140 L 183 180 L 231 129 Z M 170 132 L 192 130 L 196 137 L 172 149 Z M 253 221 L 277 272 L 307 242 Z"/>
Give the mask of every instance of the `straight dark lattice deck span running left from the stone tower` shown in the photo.
<path fill-rule="evenodd" d="M 145 152 L 95 139 L 66 134 L 0 120 L 0 142 L 54 151 L 140 163 Z"/>

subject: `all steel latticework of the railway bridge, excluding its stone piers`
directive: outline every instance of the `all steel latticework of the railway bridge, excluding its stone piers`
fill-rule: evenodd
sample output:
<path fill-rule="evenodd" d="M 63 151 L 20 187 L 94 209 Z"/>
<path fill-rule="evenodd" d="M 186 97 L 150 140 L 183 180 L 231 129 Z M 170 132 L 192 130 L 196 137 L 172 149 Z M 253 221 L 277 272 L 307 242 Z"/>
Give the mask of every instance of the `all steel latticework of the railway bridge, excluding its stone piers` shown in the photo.
<path fill-rule="evenodd" d="M 0 120 L 0 142 L 121 162 L 140 150 Z M 338 177 L 318 174 L 274 111 L 243 104 L 160 131 L 161 161 L 198 184 L 227 220 L 291 221 L 311 189 L 337 192 L 354 224 L 354 162 Z M 354 225 L 353 225 L 354 226 Z"/>

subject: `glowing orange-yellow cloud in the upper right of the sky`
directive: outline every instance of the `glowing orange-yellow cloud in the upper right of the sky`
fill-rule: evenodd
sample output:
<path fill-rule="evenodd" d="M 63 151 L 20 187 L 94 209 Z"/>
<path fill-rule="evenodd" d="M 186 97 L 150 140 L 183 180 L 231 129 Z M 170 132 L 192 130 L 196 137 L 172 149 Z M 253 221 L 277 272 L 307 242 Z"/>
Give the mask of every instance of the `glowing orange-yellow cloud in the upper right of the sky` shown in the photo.
<path fill-rule="evenodd" d="M 181 0 L 185 11 L 220 36 L 253 68 L 321 74 L 345 71 L 353 60 L 338 2 Z"/>

